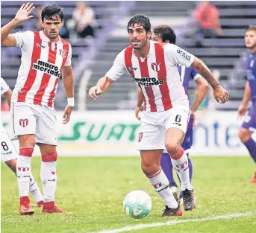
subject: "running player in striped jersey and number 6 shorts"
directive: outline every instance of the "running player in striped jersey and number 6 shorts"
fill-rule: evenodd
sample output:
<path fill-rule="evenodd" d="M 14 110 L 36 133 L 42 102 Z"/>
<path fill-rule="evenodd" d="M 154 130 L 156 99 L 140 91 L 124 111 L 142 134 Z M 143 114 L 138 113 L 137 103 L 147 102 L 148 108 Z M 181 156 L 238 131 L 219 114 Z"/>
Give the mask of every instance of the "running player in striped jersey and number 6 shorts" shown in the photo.
<path fill-rule="evenodd" d="M 172 195 L 169 180 L 160 168 L 160 156 L 165 147 L 172 158 L 172 165 L 180 170 L 181 191 L 187 189 L 186 199 L 184 197 L 185 211 L 193 210 L 195 202 L 187 170 L 187 155 L 181 147 L 190 116 L 189 102 L 175 65 L 195 67 L 213 87 L 217 101 L 221 99 L 225 103 L 228 92 L 222 89 L 207 66 L 193 54 L 176 45 L 163 46 L 150 41 L 152 33 L 148 17 L 132 17 L 127 30 L 131 45 L 117 55 L 112 68 L 99 79 L 96 86 L 90 88 L 89 95 L 96 100 L 99 95 L 107 92 L 125 70 L 143 89 L 146 111 L 141 116 L 137 147 L 140 150 L 141 168 L 166 203 L 162 216 L 178 216 L 182 214 L 180 205 Z"/>

